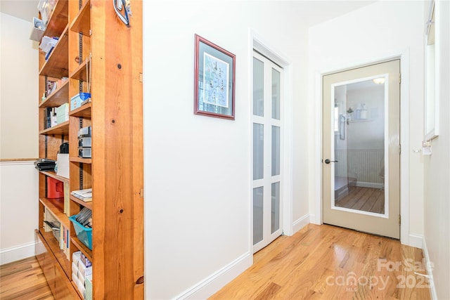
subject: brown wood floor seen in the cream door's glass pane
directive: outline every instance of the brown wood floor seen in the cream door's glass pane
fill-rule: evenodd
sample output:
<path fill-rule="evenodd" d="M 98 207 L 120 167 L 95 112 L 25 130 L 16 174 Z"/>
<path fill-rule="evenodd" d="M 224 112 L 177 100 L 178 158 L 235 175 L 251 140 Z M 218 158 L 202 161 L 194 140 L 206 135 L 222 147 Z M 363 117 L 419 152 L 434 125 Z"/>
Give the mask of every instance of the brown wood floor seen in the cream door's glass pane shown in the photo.
<path fill-rule="evenodd" d="M 385 213 L 385 190 L 379 188 L 350 188 L 348 195 L 335 202 L 337 207 Z"/>

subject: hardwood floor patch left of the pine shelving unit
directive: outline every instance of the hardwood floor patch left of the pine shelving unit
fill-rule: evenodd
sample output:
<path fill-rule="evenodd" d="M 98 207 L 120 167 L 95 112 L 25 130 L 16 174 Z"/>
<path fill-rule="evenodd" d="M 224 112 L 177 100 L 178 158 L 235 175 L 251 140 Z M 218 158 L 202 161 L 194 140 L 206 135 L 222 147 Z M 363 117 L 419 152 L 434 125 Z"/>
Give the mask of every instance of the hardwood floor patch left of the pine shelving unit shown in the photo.
<path fill-rule="evenodd" d="M 0 299 L 54 299 L 34 256 L 0 266 Z"/>

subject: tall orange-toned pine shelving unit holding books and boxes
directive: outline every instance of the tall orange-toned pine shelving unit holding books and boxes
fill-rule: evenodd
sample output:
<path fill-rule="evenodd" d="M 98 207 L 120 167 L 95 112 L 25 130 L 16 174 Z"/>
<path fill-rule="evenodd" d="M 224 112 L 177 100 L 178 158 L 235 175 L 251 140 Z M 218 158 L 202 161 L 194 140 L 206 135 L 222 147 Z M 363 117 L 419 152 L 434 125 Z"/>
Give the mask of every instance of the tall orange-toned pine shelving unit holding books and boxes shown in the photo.
<path fill-rule="evenodd" d="M 69 142 L 70 178 L 39 172 L 36 233 L 46 251 L 38 261 L 56 299 L 84 298 L 72 280 L 77 251 L 92 262 L 93 299 L 143 299 L 142 1 L 132 2 L 131 9 L 127 27 L 109 1 L 58 0 L 44 31 L 59 39 L 47 61 L 39 53 L 39 157 L 56 159 L 60 144 Z M 41 101 L 47 81 L 63 77 L 68 80 Z M 70 110 L 68 122 L 44 129 L 44 107 L 70 104 L 85 92 L 91 101 Z M 92 158 L 78 156 L 77 133 L 86 126 L 92 128 Z M 49 177 L 69 192 L 92 188 L 93 201 L 68 193 L 65 199 L 49 199 Z M 84 207 L 93 211 L 92 249 L 68 219 Z M 68 229 L 68 252 L 44 230 L 44 211 Z"/>

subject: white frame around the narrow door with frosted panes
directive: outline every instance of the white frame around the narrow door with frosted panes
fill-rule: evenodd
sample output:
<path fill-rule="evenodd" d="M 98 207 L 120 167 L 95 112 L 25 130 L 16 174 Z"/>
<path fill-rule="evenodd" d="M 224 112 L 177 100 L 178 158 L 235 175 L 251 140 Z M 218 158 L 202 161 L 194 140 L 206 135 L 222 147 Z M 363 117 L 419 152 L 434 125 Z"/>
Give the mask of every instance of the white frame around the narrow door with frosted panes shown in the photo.
<path fill-rule="evenodd" d="M 282 140 L 282 149 L 283 149 L 283 164 L 281 165 L 281 178 L 283 181 L 281 183 L 281 189 L 283 190 L 283 201 L 281 210 L 281 227 L 283 228 L 283 235 L 293 235 L 293 194 L 292 194 L 292 182 L 293 182 L 293 68 L 288 58 L 286 58 L 282 53 L 277 51 L 275 48 L 268 46 L 269 43 L 264 41 L 262 37 L 249 29 L 249 45 L 248 45 L 248 61 L 253 61 L 253 51 L 256 50 L 261 53 L 269 60 L 272 60 L 274 63 L 283 67 L 284 73 L 284 81 L 283 81 L 283 107 L 281 107 L 283 111 L 284 119 L 281 120 L 282 128 L 283 128 L 283 140 Z M 249 74 L 248 74 L 248 86 L 253 86 L 253 68 L 252 65 L 249 65 Z M 249 112 L 253 114 L 253 89 L 249 89 Z M 250 222 L 249 226 L 249 236 L 248 236 L 248 247 L 250 251 L 250 259 L 251 263 L 253 263 L 253 140 L 252 140 L 252 128 L 253 121 L 252 115 L 248 116 L 248 124 L 249 124 L 249 149 L 250 149 L 250 174 L 249 174 L 249 188 L 248 188 L 248 207 L 250 214 Z"/>

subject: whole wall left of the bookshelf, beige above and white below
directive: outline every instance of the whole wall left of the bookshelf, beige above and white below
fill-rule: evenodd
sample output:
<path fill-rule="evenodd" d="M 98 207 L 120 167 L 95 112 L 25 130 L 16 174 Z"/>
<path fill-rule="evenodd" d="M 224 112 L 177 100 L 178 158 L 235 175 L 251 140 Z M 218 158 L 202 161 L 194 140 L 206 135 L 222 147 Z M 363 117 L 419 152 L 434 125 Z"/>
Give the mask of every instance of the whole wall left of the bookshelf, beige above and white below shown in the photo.
<path fill-rule="evenodd" d="M 34 255 L 38 218 L 38 55 L 31 22 L 0 14 L 0 263 Z"/>

